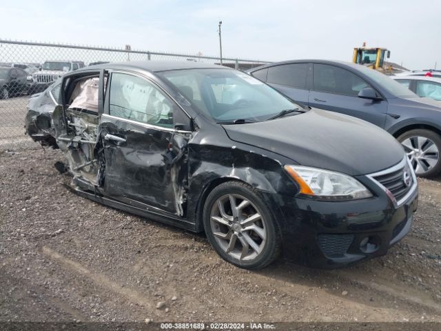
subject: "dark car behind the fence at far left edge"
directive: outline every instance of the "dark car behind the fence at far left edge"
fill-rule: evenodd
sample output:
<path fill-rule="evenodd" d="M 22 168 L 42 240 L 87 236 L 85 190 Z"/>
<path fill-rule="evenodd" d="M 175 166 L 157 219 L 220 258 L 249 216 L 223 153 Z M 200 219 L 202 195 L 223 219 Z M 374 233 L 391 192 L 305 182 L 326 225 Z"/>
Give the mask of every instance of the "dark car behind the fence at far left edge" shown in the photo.
<path fill-rule="evenodd" d="M 20 68 L 0 67 L 0 99 L 26 92 L 28 74 Z"/>

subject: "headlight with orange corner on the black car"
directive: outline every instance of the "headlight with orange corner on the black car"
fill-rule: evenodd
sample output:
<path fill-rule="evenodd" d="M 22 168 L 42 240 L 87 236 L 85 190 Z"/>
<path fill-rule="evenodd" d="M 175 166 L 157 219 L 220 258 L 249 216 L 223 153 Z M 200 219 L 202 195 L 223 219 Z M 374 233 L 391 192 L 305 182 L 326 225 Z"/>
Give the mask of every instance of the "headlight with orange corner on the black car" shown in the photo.
<path fill-rule="evenodd" d="M 300 186 L 300 193 L 325 200 L 355 200 L 372 197 L 365 185 L 340 172 L 285 165 L 285 170 Z"/>

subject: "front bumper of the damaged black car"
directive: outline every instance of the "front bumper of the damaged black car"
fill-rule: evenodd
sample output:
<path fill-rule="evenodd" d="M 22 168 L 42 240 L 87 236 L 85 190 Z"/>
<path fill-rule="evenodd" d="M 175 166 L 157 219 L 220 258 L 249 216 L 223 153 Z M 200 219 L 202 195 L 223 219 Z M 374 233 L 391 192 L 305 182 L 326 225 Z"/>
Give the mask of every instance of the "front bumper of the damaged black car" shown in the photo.
<path fill-rule="evenodd" d="M 314 268 L 339 268 L 386 254 L 409 232 L 418 184 L 399 206 L 382 190 L 356 201 L 279 197 L 278 205 L 284 257 Z"/>

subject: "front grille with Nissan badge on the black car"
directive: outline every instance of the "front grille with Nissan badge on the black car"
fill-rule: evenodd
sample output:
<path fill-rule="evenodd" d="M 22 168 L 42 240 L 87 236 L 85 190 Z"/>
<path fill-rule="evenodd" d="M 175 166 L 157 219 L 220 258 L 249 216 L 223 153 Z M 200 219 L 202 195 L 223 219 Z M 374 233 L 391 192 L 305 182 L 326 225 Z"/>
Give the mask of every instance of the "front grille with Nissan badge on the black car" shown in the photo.
<path fill-rule="evenodd" d="M 400 199 L 409 192 L 413 185 L 412 172 L 409 168 L 409 163 L 407 162 L 398 170 L 382 172 L 382 174 L 379 175 L 374 174 L 373 179 L 383 185 L 384 188 L 387 188 L 387 190 L 393 194 L 396 201 L 400 201 Z"/>

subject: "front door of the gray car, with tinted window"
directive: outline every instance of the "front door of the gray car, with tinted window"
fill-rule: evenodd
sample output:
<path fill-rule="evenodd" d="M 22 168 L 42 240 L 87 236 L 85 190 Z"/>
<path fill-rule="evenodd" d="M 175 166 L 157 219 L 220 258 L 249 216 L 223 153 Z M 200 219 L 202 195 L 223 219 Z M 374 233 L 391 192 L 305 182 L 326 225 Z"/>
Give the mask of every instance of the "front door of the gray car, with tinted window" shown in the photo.
<path fill-rule="evenodd" d="M 371 87 L 358 75 L 328 64 L 314 63 L 309 106 L 358 117 L 384 128 L 387 101 L 361 99 L 358 92 Z"/>

